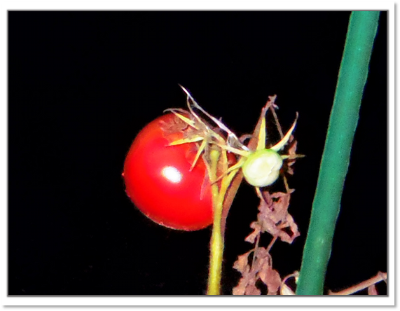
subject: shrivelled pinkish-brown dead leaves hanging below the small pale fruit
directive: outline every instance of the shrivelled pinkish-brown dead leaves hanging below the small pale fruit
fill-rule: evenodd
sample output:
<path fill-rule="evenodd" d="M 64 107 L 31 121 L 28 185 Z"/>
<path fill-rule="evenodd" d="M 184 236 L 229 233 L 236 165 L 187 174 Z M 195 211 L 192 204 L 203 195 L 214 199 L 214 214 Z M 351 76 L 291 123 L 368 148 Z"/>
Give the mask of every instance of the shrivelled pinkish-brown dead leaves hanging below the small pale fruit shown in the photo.
<path fill-rule="evenodd" d="M 293 174 L 292 165 L 296 161 L 297 142 L 291 137 L 289 147 L 289 174 Z M 292 158 L 293 157 L 293 158 Z M 286 183 L 285 183 L 286 184 Z M 260 205 L 258 206 L 257 221 L 251 223 L 254 231 L 245 238 L 245 241 L 255 244 L 254 249 L 240 255 L 233 268 L 242 274 L 239 284 L 233 289 L 233 295 L 260 295 L 261 290 L 256 286 L 258 281 L 263 282 L 268 289 L 268 295 L 293 293 L 285 284 L 287 277 L 282 279 L 279 272 L 273 268 L 273 259 L 270 249 L 276 240 L 291 242 L 300 235 L 298 226 L 289 214 L 289 202 L 294 189 L 287 187 L 287 192 L 269 193 L 259 191 Z M 258 247 L 261 233 L 270 233 L 273 240 L 268 248 Z M 253 255 L 250 258 L 250 255 Z"/>

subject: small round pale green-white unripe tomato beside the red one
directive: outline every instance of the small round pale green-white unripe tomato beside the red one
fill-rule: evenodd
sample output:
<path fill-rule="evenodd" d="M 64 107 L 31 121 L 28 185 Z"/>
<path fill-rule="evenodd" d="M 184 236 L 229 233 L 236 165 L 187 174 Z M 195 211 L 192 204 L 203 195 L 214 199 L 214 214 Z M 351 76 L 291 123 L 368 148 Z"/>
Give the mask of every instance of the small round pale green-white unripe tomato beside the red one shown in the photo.
<path fill-rule="evenodd" d="M 244 162 L 242 172 L 251 186 L 265 187 L 273 184 L 280 175 L 283 160 L 271 149 L 257 150 Z"/>

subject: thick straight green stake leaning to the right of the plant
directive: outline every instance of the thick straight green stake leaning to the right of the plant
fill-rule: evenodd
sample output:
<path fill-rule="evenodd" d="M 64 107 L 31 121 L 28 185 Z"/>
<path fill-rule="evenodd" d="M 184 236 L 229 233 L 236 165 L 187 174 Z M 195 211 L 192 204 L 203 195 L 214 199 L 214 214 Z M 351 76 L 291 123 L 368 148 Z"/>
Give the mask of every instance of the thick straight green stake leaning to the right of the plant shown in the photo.
<path fill-rule="evenodd" d="M 322 295 L 379 12 L 352 12 L 296 294 Z"/>

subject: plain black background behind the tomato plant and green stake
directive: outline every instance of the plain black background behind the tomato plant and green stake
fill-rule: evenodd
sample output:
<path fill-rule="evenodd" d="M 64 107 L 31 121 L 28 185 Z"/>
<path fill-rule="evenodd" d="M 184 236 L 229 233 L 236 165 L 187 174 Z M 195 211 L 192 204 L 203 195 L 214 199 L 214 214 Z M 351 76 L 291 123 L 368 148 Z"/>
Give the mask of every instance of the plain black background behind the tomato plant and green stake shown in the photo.
<path fill-rule="evenodd" d="M 299 113 L 289 211 L 301 237 L 277 242 L 298 270 L 350 12 L 9 12 L 8 294 L 205 293 L 211 228 L 170 230 L 125 195 L 125 154 L 190 90 L 238 135 L 277 94 Z M 223 293 L 256 219 L 243 184 L 228 216 Z M 263 237 L 265 244 L 269 237 Z M 262 242 L 263 242 L 262 241 Z M 381 13 L 326 288 L 387 269 L 387 15 Z M 385 290 L 385 289 L 384 289 Z"/>

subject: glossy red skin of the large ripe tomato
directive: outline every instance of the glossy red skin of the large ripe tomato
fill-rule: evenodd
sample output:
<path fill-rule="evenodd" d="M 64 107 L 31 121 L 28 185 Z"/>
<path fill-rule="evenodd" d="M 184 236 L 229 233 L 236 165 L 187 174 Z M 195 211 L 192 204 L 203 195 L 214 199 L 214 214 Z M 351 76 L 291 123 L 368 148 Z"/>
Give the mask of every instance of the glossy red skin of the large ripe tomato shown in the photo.
<path fill-rule="evenodd" d="M 196 153 L 193 144 L 168 146 L 171 140 L 165 138 L 160 121 L 171 118 L 177 117 L 170 113 L 153 120 L 133 141 L 123 172 L 126 193 L 156 223 L 177 230 L 200 230 L 213 221 L 211 186 L 202 158 L 190 171 Z M 181 181 L 167 179 L 165 167 L 175 167 Z"/>

